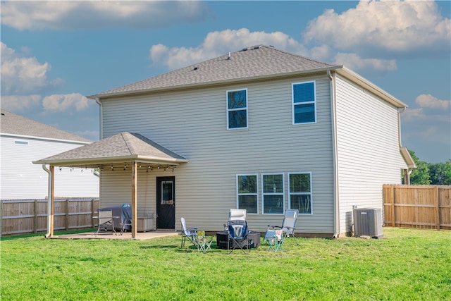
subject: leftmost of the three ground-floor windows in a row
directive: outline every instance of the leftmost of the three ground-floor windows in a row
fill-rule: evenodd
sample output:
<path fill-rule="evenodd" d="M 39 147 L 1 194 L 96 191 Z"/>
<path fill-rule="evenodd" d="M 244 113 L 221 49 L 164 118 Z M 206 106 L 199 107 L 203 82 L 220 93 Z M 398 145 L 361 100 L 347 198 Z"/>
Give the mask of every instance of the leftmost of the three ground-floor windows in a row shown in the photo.
<path fill-rule="evenodd" d="M 257 214 L 257 175 L 237 175 L 237 207 Z"/>

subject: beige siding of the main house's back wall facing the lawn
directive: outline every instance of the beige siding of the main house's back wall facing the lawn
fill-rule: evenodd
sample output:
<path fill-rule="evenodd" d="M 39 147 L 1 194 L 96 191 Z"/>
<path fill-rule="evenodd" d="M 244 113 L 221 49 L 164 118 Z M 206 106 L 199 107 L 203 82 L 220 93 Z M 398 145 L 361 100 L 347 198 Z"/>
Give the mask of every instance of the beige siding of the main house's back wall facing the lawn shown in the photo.
<path fill-rule="evenodd" d="M 316 80 L 316 123 L 292 125 L 292 82 L 311 80 Z M 227 130 L 226 91 L 236 89 L 247 89 L 248 128 Z M 257 173 L 259 214 L 249 214 L 249 228 L 266 231 L 270 223 L 280 225 L 283 215 L 261 214 L 261 174 L 284 173 L 288 208 L 288 173 L 311 172 L 313 214 L 299 216 L 297 232 L 333 233 L 325 75 L 106 99 L 102 108 L 104 138 L 123 131 L 140 133 L 189 159 L 175 171 L 138 171 L 138 213 L 155 211 L 156 176 L 175 176 L 177 230 L 185 217 L 191 226 L 222 231 L 229 209 L 237 207 L 236 175 Z M 105 168 L 101 206 L 130 203 L 130 198 L 131 171 Z"/>

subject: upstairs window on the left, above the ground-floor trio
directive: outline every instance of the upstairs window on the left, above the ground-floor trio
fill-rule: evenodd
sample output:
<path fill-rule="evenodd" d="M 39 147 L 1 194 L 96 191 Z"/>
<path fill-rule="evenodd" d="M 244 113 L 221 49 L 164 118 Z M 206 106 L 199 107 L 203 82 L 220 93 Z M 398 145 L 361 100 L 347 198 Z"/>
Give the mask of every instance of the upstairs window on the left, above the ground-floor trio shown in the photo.
<path fill-rule="evenodd" d="M 227 128 L 247 128 L 247 89 L 227 91 Z"/>

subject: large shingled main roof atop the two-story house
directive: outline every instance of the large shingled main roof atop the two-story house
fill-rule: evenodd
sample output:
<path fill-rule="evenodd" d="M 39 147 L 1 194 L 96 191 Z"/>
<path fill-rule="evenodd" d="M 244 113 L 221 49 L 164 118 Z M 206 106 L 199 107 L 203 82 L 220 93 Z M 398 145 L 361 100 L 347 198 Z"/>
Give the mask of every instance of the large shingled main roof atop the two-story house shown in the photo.
<path fill-rule="evenodd" d="M 318 72 L 319 70 L 333 70 L 341 67 L 333 63 L 324 63 L 305 56 L 291 54 L 274 47 L 259 45 L 101 92 L 89 96 L 89 98 L 235 80 L 274 78 L 291 73 Z"/>

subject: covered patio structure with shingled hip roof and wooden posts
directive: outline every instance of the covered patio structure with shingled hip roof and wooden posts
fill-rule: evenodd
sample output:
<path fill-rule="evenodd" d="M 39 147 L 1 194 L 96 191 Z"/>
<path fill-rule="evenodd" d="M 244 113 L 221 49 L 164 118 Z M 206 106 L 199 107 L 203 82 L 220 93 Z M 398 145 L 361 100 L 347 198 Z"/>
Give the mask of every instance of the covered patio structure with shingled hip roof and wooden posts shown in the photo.
<path fill-rule="evenodd" d="M 137 164 L 147 166 L 176 166 L 188 160 L 169 149 L 137 133 L 123 132 L 111 137 L 84 145 L 67 152 L 34 161 L 42 164 L 49 173 L 49 207 L 46 238 L 54 236 L 54 167 L 67 166 L 79 168 L 114 168 L 115 166 L 131 166 L 132 178 L 132 233 L 137 237 Z M 125 164 L 125 165 L 124 165 Z M 45 166 L 49 165 L 47 169 Z"/>

